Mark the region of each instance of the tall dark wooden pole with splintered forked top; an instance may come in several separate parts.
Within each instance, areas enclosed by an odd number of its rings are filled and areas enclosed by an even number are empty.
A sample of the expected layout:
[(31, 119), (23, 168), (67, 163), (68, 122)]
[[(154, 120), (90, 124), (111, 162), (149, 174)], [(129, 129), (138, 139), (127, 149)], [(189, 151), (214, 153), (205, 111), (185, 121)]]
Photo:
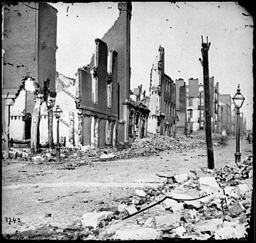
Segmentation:
[[(202, 66), (204, 74), (204, 113), (205, 113), (205, 136), (207, 145), (207, 162), (208, 168), (214, 169), (214, 154), (213, 154), (213, 140), (211, 132), (211, 94), (210, 94), (210, 84), (209, 84), (209, 62), (208, 62), (208, 51), (211, 42), (204, 43), (202, 36)], [(201, 61), (201, 58), (199, 58)]]

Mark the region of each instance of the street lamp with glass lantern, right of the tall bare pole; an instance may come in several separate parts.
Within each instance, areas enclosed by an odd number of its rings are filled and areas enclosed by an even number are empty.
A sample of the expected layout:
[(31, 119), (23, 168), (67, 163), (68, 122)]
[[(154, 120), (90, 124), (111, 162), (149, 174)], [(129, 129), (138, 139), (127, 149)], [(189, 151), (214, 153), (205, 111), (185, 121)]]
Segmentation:
[(237, 162), (241, 162), (240, 140), (239, 140), (239, 138), (240, 138), (240, 134), (239, 134), (240, 108), (242, 107), (243, 102), (245, 101), (245, 98), (243, 97), (243, 95), (240, 92), (239, 85), (237, 88), (237, 93), (234, 95), (232, 100), (234, 101), (234, 106), (237, 108), (236, 153), (234, 154), (235, 162), (237, 163)]

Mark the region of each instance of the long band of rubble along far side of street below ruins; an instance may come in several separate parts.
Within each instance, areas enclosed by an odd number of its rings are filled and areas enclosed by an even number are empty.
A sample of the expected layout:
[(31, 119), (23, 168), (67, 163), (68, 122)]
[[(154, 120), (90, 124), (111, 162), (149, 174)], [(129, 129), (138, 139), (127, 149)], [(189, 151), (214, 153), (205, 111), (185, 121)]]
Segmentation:
[[(225, 144), (231, 137), (213, 134), (214, 146)], [(134, 141), (130, 148), (118, 151), (116, 148), (91, 148), (90, 146), (65, 148), (60, 150), (60, 158), (62, 162), (81, 159), (97, 160), (114, 160), (133, 158), (138, 156), (149, 156), (161, 151), (186, 151), (195, 148), (206, 148), (205, 134), (203, 131), (194, 132), (191, 136), (177, 134), (175, 138), (168, 136), (146, 137)], [(54, 163), (56, 162), (56, 149), (43, 149), (43, 151), (34, 156), (28, 152), (26, 148), (13, 148), (8, 151), (2, 151), (2, 159), (5, 161), (23, 161), (32, 162), (33, 164)]]

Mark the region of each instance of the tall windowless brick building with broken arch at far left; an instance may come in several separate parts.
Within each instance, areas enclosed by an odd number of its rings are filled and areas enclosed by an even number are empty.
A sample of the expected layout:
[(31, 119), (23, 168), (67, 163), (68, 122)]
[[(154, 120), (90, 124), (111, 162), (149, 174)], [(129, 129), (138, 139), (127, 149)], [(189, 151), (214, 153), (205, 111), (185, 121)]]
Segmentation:
[[(14, 126), (22, 130), (22, 139), (30, 139), (34, 99), (40, 96), (41, 101), (50, 102), (48, 98), (54, 100), (56, 96), (56, 15), (57, 10), (45, 2), (5, 2), (2, 6), (3, 134), (9, 135), (10, 117), (16, 115), (19, 123)], [(22, 114), (12, 113), (17, 111), (15, 99), (28, 79), (34, 83), (35, 96), (26, 91), (22, 94)], [(36, 122), (33, 131), (38, 129)]]

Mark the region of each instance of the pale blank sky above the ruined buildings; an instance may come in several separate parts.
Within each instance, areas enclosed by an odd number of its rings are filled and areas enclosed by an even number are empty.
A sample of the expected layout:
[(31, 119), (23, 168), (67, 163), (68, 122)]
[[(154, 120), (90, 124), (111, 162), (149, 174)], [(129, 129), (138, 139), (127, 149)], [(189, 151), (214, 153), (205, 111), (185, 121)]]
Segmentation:
[[(51, 3), (58, 9), (56, 70), (75, 78), (90, 63), (95, 38), (102, 38), (119, 16), (117, 2)], [(165, 48), (165, 73), (173, 80), (198, 78), (201, 35), (208, 36), (209, 75), (221, 94), (234, 96), (240, 83), (241, 108), (252, 129), (253, 18), (235, 2), (132, 2), (131, 90), (142, 83), (148, 94), (150, 70), (159, 45)], [(243, 13), (245, 15), (243, 15)]]

